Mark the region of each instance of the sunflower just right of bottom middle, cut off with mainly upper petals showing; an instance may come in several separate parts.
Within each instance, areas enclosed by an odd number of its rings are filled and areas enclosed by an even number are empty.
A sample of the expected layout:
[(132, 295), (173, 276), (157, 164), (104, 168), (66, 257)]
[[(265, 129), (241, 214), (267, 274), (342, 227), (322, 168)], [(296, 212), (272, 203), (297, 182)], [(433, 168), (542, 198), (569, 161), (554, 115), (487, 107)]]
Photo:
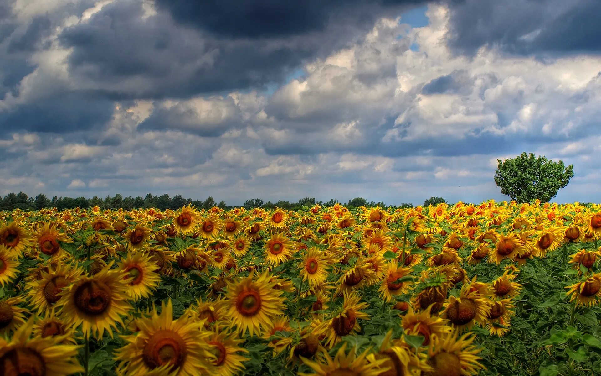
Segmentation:
[(314, 371), (312, 374), (305, 374), (299, 372), (302, 376), (320, 375), (320, 376), (334, 376), (334, 375), (353, 375), (353, 376), (377, 376), (382, 372), (388, 371), (388, 368), (384, 368), (383, 364), (386, 362), (385, 359), (374, 359), (373, 362), (367, 360), (367, 354), (369, 350), (365, 350), (359, 356), (355, 355), (355, 348), (346, 354), (346, 343), (343, 344), (337, 351), (334, 359), (329, 356), (328, 353), (323, 352), (323, 358), (321, 362), (314, 362), (302, 357), (303, 363), (310, 366)]

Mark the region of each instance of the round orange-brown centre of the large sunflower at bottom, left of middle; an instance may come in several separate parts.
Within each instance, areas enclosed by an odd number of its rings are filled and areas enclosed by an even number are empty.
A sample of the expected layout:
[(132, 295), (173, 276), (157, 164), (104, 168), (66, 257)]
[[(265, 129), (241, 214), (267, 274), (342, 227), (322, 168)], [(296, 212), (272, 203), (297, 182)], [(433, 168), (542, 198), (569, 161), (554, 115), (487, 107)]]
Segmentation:
[(181, 366), (186, 360), (188, 348), (182, 337), (172, 330), (158, 330), (144, 345), (142, 359), (151, 368), (163, 365)]

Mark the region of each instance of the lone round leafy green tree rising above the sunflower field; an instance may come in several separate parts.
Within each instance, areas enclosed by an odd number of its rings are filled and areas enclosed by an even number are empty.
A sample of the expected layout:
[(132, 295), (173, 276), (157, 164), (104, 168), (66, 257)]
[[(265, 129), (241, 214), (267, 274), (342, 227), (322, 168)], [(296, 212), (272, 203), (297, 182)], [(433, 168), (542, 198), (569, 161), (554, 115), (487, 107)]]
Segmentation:
[(574, 165), (568, 167), (563, 161), (549, 161), (545, 156), (523, 152), (516, 158), (497, 159), (495, 183), (501, 193), (519, 203), (540, 199), (548, 202), (574, 176)]

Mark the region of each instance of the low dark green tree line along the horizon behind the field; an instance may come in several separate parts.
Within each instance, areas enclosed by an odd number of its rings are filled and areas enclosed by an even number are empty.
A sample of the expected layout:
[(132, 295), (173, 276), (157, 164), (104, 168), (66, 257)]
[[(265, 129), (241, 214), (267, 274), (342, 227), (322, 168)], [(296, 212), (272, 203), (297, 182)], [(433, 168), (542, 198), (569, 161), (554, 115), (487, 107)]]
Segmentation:
[[(264, 208), (273, 209), (276, 206), (282, 209), (295, 210), (301, 209), (303, 206), (313, 206), (319, 204), (321, 206), (334, 206), (338, 203), (338, 200), (331, 199), (328, 202), (317, 201), (315, 197), (305, 197), (304, 199), (298, 200), (298, 202), (289, 202), (279, 200), (278, 202), (272, 203), (271, 201), (263, 202), (261, 199), (249, 199), (244, 203), (244, 207), (247, 209), (251, 208)], [(52, 198), (47, 197), (45, 194), (40, 193), (35, 197), (28, 197), (23, 192), (9, 193), (2, 197), (0, 201), (0, 211), (13, 209), (22, 210), (39, 210), (43, 208), (57, 208), (58, 210), (73, 209), (73, 208), (91, 208), (98, 205), (101, 209), (118, 209), (123, 208), (126, 210), (131, 209), (146, 209), (146, 208), (157, 208), (161, 210), (165, 209), (179, 209), (184, 205), (192, 204), (199, 209), (210, 209), (213, 206), (218, 206), (222, 209), (232, 209), (234, 206), (227, 205), (224, 200), (216, 202), (213, 197), (208, 197), (206, 200), (192, 200), (184, 199), (181, 194), (176, 194), (173, 197), (169, 197), (168, 194), (162, 196), (153, 196), (148, 193), (145, 197), (123, 197), (120, 194), (115, 194), (114, 197), (106, 196), (101, 199), (98, 196), (94, 196), (91, 199), (86, 197), (58, 197)], [(349, 202), (344, 205), (358, 208), (359, 206), (386, 206), (383, 202), (367, 201), (363, 197), (356, 197), (350, 199)], [(413, 208), (411, 203), (402, 203), (401, 205), (394, 206), (395, 208)]]

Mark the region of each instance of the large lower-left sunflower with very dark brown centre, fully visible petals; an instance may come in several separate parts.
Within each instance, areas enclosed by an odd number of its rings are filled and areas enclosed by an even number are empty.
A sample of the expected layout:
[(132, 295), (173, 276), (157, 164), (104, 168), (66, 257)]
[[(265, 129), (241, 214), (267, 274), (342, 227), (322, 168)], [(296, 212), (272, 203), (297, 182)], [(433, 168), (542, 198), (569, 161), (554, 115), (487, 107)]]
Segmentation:
[(61, 316), (72, 319), (75, 327), (82, 325), (85, 337), (92, 333), (102, 338), (105, 330), (112, 337), (112, 329), (117, 328), (117, 322), (123, 325), (121, 316), (130, 311), (126, 294), (129, 286), (123, 280), (126, 274), (110, 270), (111, 265), (92, 277), (81, 277), (72, 283), (57, 303), (61, 306)]

